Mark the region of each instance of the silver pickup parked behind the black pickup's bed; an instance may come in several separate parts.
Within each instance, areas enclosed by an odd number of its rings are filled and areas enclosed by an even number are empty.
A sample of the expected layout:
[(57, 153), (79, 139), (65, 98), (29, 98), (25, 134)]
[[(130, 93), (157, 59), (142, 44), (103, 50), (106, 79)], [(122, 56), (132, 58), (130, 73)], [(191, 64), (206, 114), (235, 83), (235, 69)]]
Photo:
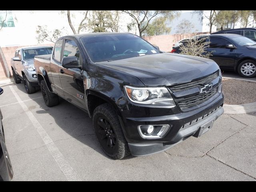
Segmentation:
[(15, 83), (23, 82), (26, 92), (32, 94), (40, 88), (34, 68), (34, 56), (52, 53), (52, 46), (18, 48), (12, 58), (11, 67)]

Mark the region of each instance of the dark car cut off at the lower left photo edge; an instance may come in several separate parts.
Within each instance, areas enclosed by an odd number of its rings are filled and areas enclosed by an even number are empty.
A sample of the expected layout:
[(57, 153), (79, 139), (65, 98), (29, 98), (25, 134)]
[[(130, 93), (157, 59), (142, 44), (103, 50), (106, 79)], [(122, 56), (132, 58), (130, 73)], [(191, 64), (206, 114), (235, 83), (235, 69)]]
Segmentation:
[[(4, 92), (0, 88), (0, 95)], [(0, 109), (0, 181), (10, 181), (13, 177), (12, 163), (8, 154), (5, 140), (4, 140), (4, 127), (2, 124), (2, 112)]]

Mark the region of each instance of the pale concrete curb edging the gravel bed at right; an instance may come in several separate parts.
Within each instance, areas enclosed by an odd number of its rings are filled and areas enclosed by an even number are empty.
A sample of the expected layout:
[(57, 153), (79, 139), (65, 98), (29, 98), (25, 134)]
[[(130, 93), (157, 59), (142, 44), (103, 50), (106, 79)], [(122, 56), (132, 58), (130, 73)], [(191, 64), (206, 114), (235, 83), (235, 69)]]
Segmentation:
[[(232, 77), (222, 77), (223, 79), (235, 79), (247, 82), (256, 83), (255, 80), (249, 79), (239, 79), (239, 78), (232, 78)], [(247, 114), (247, 113), (255, 113), (256, 112), (256, 102), (253, 103), (246, 103), (241, 105), (228, 105), (224, 104), (224, 114)]]

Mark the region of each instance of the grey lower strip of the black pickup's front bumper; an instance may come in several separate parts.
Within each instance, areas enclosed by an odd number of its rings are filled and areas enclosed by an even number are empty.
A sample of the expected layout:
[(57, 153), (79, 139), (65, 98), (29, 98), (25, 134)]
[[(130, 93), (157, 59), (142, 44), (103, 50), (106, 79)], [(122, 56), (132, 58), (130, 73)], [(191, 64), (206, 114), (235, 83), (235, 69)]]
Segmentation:
[(182, 142), (186, 138), (196, 134), (201, 126), (208, 124), (209, 122), (214, 122), (219, 116), (224, 112), (224, 109), (220, 106), (211, 115), (204, 118), (202, 121), (188, 127), (185, 129), (180, 129), (176, 136), (170, 142), (162, 143), (128, 143), (130, 152), (133, 156), (145, 156), (150, 154), (155, 154), (172, 146)]

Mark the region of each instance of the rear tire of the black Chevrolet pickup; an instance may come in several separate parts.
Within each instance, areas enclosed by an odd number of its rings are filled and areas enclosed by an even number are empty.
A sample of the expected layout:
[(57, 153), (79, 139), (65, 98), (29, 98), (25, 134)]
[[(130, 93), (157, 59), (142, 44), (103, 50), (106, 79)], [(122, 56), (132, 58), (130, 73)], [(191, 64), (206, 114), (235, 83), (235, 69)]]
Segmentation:
[(44, 80), (41, 81), (40, 86), (41, 86), (41, 91), (42, 91), (42, 95), (43, 95), (45, 104), (48, 107), (58, 105), (58, 103), (59, 103), (58, 95), (51, 93), (48, 90), (46, 82)]

